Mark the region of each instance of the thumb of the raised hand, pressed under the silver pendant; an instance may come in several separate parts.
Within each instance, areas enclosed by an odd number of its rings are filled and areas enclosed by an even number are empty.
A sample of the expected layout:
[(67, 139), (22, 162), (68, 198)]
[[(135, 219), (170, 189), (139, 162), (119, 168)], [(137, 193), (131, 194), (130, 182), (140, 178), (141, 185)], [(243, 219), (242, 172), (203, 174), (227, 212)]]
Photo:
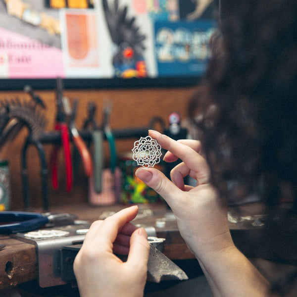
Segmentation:
[(155, 168), (138, 168), (135, 175), (162, 196), (171, 206), (182, 192), (162, 172)]

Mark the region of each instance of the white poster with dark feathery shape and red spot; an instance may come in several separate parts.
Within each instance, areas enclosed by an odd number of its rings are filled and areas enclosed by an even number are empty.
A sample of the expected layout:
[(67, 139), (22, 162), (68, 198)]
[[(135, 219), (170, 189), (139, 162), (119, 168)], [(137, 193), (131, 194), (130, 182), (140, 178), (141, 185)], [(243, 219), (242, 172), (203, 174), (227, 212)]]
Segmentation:
[(118, 7), (113, 0), (98, 0), (96, 5), (106, 75), (155, 77), (153, 22), (146, 0), (120, 0)]

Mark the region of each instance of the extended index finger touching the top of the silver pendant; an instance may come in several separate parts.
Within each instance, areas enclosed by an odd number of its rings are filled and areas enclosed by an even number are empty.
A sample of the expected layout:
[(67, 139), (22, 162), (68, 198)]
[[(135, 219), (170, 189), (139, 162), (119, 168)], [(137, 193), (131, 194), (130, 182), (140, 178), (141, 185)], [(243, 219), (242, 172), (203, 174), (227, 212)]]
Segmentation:
[(195, 172), (198, 172), (199, 170), (209, 170), (205, 159), (193, 148), (154, 130), (149, 130), (148, 135), (155, 139), (162, 148), (169, 150), (175, 156), (180, 158), (189, 169), (194, 170)]

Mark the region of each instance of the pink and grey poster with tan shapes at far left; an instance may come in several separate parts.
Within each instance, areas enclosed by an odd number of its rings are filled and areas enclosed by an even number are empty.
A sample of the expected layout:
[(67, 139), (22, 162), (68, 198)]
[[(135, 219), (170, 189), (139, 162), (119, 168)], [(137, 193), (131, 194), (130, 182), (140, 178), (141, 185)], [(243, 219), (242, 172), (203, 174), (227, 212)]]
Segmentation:
[(58, 12), (42, 0), (1, 0), (0, 56), (2, 78), (63, 76)]

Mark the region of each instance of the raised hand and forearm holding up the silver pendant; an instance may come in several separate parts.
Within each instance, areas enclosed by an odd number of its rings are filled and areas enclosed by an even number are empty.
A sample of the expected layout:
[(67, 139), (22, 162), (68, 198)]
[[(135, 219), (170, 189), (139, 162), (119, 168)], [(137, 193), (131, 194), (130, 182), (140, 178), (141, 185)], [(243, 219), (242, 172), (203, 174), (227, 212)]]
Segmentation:
[[(215, 297), (270, 296), (268, 283), (234, 246), (227, 206), (209, 183), (209, 168), (196, 141), (174, 141), (156, 131), (149, 135), (169, 150), (165, 161), (183, 162), (171, 171), (172, 182), (154, 168), (139, 168), (138, 178), (158, 192), (174, 212), (180, 233), (195, 253)], [(197, 180), (184, 185), (183, 177)]]

